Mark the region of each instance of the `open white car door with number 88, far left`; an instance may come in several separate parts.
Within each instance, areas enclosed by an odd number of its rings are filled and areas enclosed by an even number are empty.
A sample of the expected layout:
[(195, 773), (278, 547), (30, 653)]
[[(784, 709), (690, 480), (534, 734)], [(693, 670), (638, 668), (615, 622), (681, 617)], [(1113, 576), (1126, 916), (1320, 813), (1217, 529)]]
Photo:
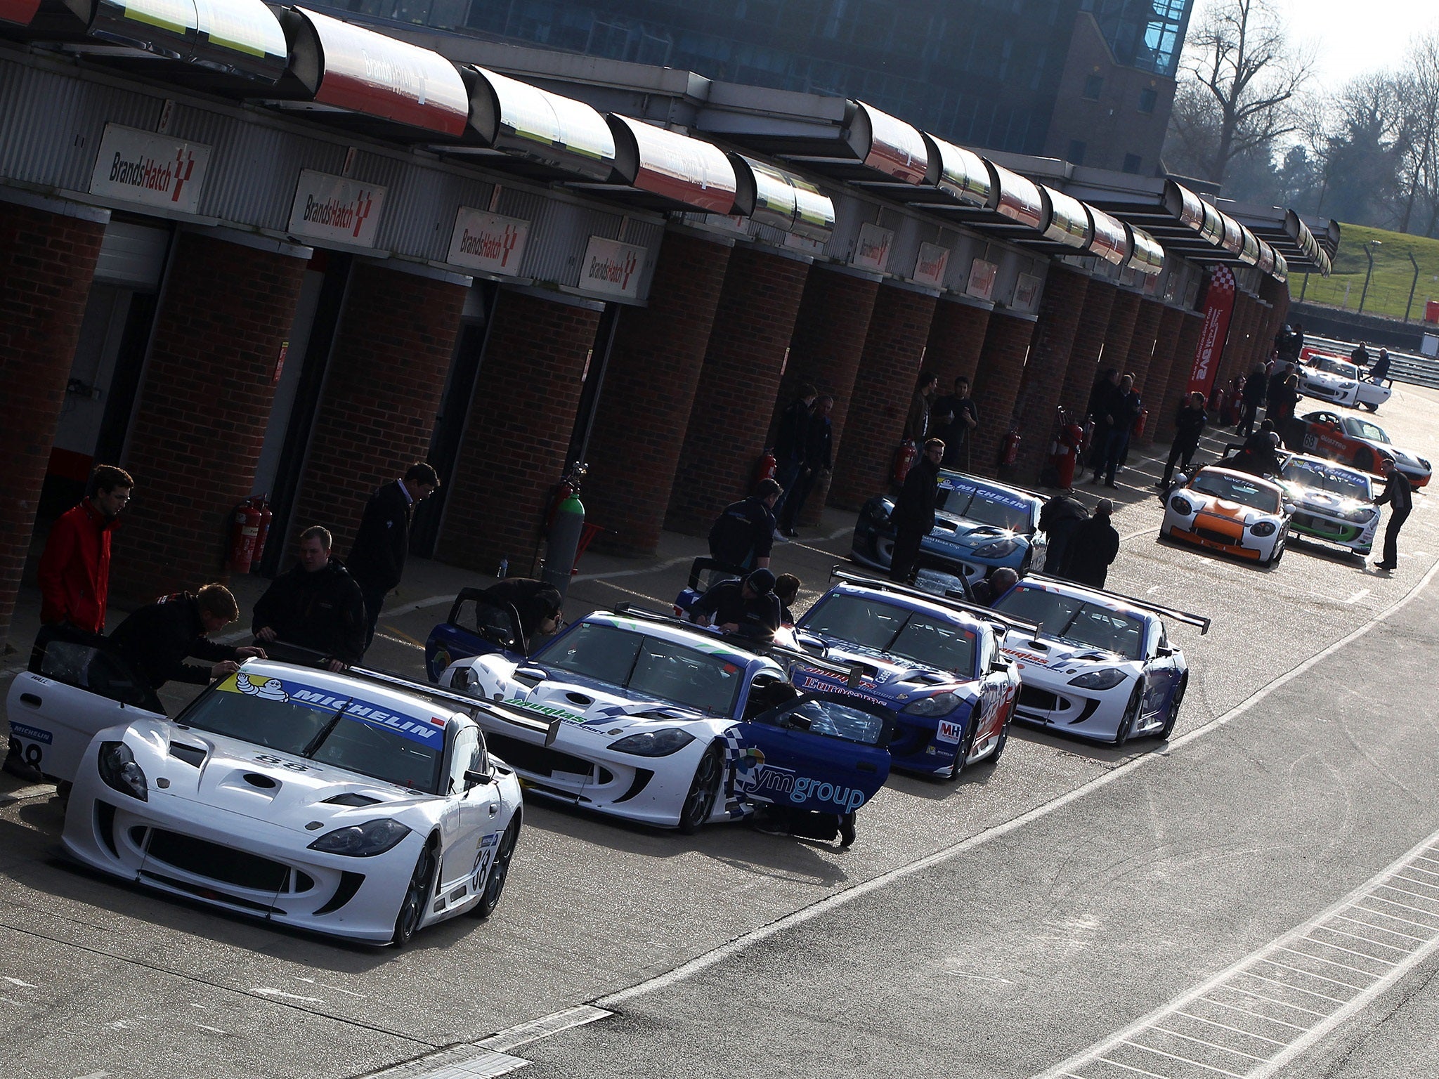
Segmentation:
[(46, 626), (6, 698), (10, 750), (56, 781), (73, 783), (81, 755), (108, 727), (165, 718), (164, 705), (105, 637)]

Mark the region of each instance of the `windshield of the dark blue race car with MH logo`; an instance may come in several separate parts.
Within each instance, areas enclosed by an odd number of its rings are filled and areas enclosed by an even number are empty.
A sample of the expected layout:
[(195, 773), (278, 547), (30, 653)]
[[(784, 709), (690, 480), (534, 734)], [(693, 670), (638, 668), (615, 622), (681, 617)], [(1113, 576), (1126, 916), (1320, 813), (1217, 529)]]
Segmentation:
[(800, 624), (810, 633), (896, 659), (974, 676), (974, 633), (932, 614), (836, 593), (804, 616)]

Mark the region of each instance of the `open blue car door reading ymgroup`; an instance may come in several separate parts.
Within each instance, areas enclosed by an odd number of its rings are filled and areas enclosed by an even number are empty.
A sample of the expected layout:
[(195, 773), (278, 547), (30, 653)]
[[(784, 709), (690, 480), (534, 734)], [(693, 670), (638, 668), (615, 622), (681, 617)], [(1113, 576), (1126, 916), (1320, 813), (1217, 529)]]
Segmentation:
[(803, 693), (725, 732), (732, 797), (853, 813), (889, 778), (894, 714), (843, 693)]

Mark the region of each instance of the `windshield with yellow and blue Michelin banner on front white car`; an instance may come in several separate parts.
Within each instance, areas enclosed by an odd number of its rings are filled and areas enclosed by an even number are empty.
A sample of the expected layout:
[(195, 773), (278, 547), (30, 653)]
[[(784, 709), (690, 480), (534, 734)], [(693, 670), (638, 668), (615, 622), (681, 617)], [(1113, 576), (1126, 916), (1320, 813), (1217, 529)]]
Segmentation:
[[(275, 683), (275, 685), (272, 685)], [(197, 731), (308, 757), (399, 787), (439, 793), (445, 728), (355, 698), (312, 691), (288, 679), (216, 683), (177, 719)]]

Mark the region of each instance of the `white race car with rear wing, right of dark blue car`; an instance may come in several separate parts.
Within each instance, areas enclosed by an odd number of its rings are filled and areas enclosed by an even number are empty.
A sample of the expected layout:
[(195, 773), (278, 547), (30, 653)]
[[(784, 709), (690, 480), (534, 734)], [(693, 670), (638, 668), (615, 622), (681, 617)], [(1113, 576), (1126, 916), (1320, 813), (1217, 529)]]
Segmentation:
[(1209, 619), (1038, 574), (1020, 578), (994, 610), (1039, 626), (1038, 634), (1004, 634), (1003, 652), (1019, 666), (1016, 719), (1115, 745), (1168, 738), (1189, 665), (1164, 619), (1200, 633)]

